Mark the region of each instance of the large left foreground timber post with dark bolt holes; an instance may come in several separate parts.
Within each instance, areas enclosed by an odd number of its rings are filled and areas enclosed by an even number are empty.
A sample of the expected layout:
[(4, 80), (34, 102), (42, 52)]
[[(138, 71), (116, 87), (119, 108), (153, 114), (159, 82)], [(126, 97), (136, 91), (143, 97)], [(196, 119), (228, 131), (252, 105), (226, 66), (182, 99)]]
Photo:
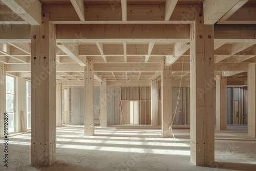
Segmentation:
[(56, 28), (49, 14), (31, 26), (31, 165), (56, 161)]

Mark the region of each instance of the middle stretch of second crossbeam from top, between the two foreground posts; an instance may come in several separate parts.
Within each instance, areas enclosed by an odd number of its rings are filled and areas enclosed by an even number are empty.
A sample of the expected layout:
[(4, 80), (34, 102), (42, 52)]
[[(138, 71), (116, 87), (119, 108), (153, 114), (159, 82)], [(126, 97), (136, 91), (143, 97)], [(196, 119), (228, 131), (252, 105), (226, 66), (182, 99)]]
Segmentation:
[[(58, 25), (58, 42), (189, 41), (189, 25)], [(93, 40), (94, 39), (94, 40)], [(97, 41), (95, 41), (97, 39)], [(139, 39), (136, 40), (136, 39)], [(97, 45), (99, 46), (99, 45)], [(103, 48), (99, 48), (103, 52)]]

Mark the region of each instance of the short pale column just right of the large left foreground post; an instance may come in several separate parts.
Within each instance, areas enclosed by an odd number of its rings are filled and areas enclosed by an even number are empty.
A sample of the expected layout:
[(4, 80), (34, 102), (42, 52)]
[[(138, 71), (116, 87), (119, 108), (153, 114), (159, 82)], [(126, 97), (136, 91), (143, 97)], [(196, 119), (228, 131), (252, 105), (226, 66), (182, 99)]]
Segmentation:
[(56, 86), (56, 125), (62, 126), (62, 84)]

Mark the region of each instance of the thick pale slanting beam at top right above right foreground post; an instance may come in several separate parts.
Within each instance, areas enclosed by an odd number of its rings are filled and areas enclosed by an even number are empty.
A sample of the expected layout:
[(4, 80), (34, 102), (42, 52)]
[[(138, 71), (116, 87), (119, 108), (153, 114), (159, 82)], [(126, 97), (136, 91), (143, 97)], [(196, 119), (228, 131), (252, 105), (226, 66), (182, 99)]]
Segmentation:
[(221, 17), (223, 17), (229, 10), (231, 10), (239, 0), (205, 0), (203, 3), (204, 9), (204, 24), (214, 25)]

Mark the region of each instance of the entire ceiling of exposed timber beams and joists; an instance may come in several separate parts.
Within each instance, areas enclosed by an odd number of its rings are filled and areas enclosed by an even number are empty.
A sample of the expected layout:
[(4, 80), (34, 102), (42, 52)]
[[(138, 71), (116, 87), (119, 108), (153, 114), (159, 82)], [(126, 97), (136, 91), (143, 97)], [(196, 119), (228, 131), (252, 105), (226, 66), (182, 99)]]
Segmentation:
[(254, 0), (2, 0), (0, 8), (0, 62), (7, 74), (26, 79), (30, 25), (39, 25), (42, 13), (57, 25), (56, 79), (66, 84), (82, 82), (88, 58), (98, 82), (159, 79), (164, 60), (174, 80), (189, 80), (189, 30), (199, 9), (204, 24), (215, 24), (216, 73), (245, 83), (248, 63), (256, 62)]

